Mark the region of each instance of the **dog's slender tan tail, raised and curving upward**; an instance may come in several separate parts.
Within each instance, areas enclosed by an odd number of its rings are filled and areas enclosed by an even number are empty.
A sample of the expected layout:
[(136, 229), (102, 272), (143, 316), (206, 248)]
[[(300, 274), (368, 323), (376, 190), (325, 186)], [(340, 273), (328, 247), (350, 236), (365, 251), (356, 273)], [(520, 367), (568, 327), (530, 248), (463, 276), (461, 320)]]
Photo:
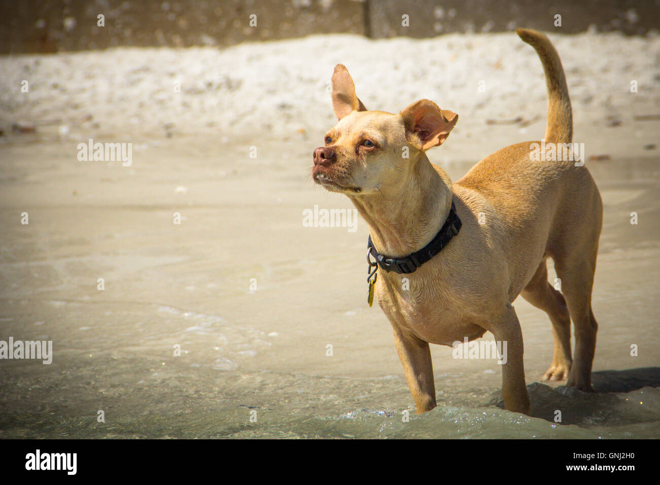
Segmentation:
[(568, 98), (566, 77), (562, 61), (550, 39), (537, 30), (518, 28), (518, 36), (536, 49), (543, 63), (548, 88), (548, 121), (545, 129), (546, 143), (571, 143), (573, 139), (573, 113)]

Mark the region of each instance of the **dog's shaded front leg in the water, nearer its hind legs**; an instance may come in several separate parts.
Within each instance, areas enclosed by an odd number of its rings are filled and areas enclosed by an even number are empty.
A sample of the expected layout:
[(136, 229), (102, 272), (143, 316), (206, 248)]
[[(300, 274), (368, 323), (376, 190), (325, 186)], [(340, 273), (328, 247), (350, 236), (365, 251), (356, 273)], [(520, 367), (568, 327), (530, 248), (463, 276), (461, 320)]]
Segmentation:
[(499, 362), (502, 364), (504, 408), (529, 414), (529, 396), (523, 367), (523, 334), (511, 304), (506, 304), (504, 312), (489, 330), (495, 336), (498, 349), (502, 349), (503, 354)]

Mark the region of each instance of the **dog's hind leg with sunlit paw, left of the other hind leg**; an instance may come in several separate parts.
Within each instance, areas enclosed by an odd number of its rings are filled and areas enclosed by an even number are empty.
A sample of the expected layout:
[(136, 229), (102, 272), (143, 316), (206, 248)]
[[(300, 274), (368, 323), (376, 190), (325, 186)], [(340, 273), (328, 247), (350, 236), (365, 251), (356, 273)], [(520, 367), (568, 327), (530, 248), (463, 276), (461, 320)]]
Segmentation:
[(546, 259), (541, 261), (539, 269), (527, 283), (520, 296), (533, 306), (542, 309), (552, 322), (554, 335), (554, 350), (552, 363), (543, 375), (544, 381), (560, 381), (568, 377), (571, 359), (571, 317), (568, 313), (564, 296), (548, 282), (548, 267)]

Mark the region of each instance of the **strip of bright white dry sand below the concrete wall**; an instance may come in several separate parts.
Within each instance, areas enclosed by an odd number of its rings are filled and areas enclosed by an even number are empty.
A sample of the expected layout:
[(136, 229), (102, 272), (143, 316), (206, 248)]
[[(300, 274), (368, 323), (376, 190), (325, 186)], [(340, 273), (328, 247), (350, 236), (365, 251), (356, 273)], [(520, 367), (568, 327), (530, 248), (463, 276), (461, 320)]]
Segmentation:
[[(660, 106), (660, 38), (551, 34), (576, 122)], [(116, 48), (0, 58), (0, 122), (91, 114), (103, 133), (220, 131), (265, 135), (323, 131), (334, 123), (327, 86), (345, 63), (370, 109), (398, 112), (430, 98), (463, 119), (545, 115), (543, 70), (515, 33), (428, 40), (313, 36), (232, 48)], [(20, 82), (30, 83), (28, 94)], [(630, 81), (639, 92), (630, 92)], [(485, 92), (479, 92), (480, 82)], [(175, 92), (180, 82), (181, 92)], [(174, 123), (174, 125), (172, 125)], [(542, 121), (543, 123), (543, 121)], [(97, 127), (99, 128), (99, 127)], [(66, 131), (66, 129), (65, 129)]]

